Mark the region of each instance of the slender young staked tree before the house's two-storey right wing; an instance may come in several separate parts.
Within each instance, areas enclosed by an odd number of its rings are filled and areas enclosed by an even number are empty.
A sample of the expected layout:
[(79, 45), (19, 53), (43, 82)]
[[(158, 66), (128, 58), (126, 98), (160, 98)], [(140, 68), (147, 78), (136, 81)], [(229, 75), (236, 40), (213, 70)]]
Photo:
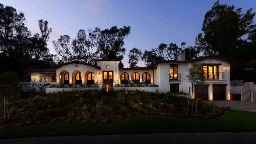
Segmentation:
[[(193, 113), (193, 92), (195, 84), (203, 84), (204, 76), (203, 76), (203, 68), (197, 63), (192, 64), (191, 68), (188, 69), (188, 75), (186, 75), (187, 81), (190, 84), (189, 89), (191, 90), (191, 114)], [(189, 96), (188, 96), (188, 105), (189, 105)], [(196, 114), (197, 114), (197, 98), (196, 98)]]

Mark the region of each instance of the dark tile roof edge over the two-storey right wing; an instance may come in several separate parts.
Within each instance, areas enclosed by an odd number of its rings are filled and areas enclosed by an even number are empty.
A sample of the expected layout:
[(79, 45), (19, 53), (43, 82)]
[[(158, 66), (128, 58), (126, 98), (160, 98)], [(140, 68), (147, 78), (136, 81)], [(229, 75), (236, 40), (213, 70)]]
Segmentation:
[(219, 55), (208, 55), (208, 56), (202, 56), (202, 57), (198, 57), (196, 59), (192, 59), (192, 60), (186, 60), (186, 61), (177, 61), (177, 60), (162, 60), (162, 61), (156, 61), (155, 63), (153, 63), (152, 65), (150, 65), (150, 68), (155, 67), (156, 65), (160, 64), (160, 63), (192, 63), (198, 60), (202, 60), (202, 59), (206, 59), (206, 58), (218, 58), (218, 59), (224, 59), (226, 61), (229, 61), (229, 63), (234, 62), (235, 60), (226, 58), (226, 57), (222, 57)]

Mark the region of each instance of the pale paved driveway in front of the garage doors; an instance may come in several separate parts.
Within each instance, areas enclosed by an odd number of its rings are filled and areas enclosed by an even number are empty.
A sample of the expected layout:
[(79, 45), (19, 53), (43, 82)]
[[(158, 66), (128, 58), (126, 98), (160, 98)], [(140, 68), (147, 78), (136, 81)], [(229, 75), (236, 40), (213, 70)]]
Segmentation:
[(208, 103), (213, 103), (213, 105), (220, 107), (231, 107), (230, 109), (234, 110), (243, 110), (256, 112), (256, 103), (252, 102), (241, 102), (238, 100), (230, 100), (230, 101), (207, 101)]

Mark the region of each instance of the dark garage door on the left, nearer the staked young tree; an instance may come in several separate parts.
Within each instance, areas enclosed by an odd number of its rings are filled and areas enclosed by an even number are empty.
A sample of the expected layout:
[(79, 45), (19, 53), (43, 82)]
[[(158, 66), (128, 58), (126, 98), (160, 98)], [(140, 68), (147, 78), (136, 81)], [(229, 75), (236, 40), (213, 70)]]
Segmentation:
[(195, 98), (208, 100), (208, 86), (209, 85), (195, 85)]

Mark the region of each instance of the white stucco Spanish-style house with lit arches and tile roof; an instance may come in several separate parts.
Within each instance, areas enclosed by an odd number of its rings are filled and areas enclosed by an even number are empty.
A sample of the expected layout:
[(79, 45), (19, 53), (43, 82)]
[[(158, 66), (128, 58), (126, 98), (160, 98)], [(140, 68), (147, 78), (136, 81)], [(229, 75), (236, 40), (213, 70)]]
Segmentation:
[[(71, 61), (51, 69), (32, 69), (31, 82), (49, 82), (56, 85), (97, 85), (98, 89), (141, 89), (179, 93), (189, 92), (186, 75), (193, 63), (203, 67), (205, 82), (195, 85), (195, 95), (203, 100), (230, 99), (230, 60), (209, 55), (186, 60), (185, 50), (178, 52), (177, 60), (156, 61), (148, 67), (118, 68), (120, 60), (96, 60), (96, 65)], [(137, 85), (139, 87), (126, 87)], [(57, 88), (47, 88), (47, 90)], [(72, 88), (71, 88), (72, 89)], [(75, 87), (73, 88), (75, 89)]]

